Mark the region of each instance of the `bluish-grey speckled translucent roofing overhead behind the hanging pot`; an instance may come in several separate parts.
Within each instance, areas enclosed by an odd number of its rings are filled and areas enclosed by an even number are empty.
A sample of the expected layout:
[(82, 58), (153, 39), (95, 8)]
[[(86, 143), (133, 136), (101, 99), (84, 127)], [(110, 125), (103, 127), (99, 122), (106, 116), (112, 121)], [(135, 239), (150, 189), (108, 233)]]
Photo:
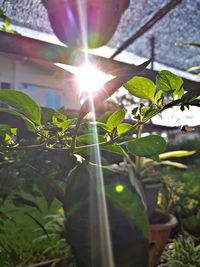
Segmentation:
[[(159, 9), (170, 0), (131, 0), (109, 46), (117, 48), (140, 29)], [(12, 23), (37, 31), (53, 34), (41, 0), (0, 0)], [(155, 60), (185, 70), (199, 65), (198, 47), (177, 46), (176, 42), (200, 42), (200, 0), (182, 0), (150, 30), (131, 44), (127, 51), (150, 57), (150, 37), (155, 37)]]

